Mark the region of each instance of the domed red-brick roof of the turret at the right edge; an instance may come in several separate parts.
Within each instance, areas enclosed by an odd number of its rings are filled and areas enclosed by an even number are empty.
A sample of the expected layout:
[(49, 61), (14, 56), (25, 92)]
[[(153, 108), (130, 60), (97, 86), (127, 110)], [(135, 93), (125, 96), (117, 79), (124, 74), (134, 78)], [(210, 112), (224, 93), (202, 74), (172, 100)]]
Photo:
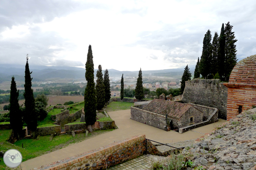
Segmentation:
[(232, 70), (228, 84), (253, 85), (256, 83), (256, 55), (239, 61)]

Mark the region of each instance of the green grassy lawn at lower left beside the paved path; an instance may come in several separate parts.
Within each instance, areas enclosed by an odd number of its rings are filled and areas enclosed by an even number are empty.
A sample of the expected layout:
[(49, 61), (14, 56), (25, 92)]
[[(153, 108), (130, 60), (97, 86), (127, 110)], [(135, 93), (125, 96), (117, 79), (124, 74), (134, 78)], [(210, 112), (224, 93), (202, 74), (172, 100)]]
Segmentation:
[[(6, 140), (10, 135), (10, 130), (0, 130), (0, 150), (7, 151), (8, 149), (17, 149), (22, 153), (23, 162), (38, 157), (43, 154), (61, 149), (68, 146), (69, 144), (77, 143), (94, 137), (99, 134), (103, 134), (114, 129), (100, 130), (90, 132), (88, 136), (85, 133), (76, 134), (75, 137), (72, 135), (60, 135), (55, 136), (52, 141), (50, 141), (50, 136), (40, 136), (39, 139), (22, 139), (13, 144), (10, 144)], [(23, 148), (22, 148), (23, 144)], [(3, 158), (0, 158), (0, 170), (5, 170), (6, 166), (3, 162)]]

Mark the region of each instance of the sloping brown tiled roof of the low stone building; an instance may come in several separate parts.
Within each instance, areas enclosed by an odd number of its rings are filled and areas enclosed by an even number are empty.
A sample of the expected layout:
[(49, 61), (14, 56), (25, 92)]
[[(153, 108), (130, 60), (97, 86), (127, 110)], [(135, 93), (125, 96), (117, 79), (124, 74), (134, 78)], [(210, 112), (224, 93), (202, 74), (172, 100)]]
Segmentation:
[(154, 99), (143, 110), (152, 111), (154, 113), (168, 115), (179, 119), (191, 107), (189, 104), (177, 103), (174, 101), (166, 101)]

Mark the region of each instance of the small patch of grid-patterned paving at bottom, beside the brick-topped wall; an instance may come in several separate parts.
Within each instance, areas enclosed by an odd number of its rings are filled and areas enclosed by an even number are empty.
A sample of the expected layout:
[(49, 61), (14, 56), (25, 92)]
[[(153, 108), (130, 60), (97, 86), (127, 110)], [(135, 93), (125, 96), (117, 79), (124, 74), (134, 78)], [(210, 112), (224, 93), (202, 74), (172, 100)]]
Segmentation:
[(155, 155), (142, 155), (125, 163), (108, 168), (108, 170), (144, 170), (150, 167), (150, 162), (157, 159), (162, 159)]

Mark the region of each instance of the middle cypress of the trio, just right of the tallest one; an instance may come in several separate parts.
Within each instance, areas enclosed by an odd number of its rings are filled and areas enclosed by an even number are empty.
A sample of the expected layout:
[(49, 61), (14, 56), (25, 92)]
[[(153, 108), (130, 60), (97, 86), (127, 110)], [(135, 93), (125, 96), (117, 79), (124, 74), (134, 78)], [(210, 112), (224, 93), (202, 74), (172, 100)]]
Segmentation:
[(105, 104), (105, 88), (104, 88), (101, 65), (98, 66), (96, 77), (97, 77), (97, 80), (96, 80), (97, 84), (95, 87), (95, 91), (96, 91), (97, 109), (101, 110)]

